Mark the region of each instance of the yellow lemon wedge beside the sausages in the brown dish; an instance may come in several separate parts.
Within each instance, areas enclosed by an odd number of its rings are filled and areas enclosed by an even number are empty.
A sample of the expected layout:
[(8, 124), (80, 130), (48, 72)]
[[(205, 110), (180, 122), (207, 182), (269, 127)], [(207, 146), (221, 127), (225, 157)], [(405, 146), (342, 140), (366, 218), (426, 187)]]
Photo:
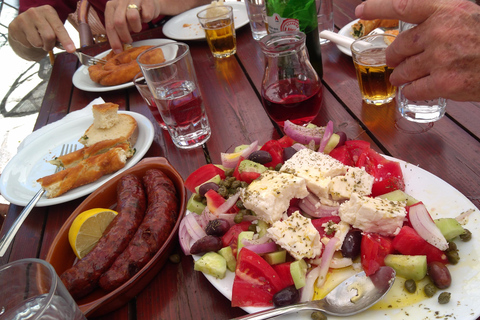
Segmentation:
[(68, 230), (68, 241), (79, 259), (85, 257), (95, 247), (116, 215), (116, 211), (95, 208), (80, 213), (73, 220)]

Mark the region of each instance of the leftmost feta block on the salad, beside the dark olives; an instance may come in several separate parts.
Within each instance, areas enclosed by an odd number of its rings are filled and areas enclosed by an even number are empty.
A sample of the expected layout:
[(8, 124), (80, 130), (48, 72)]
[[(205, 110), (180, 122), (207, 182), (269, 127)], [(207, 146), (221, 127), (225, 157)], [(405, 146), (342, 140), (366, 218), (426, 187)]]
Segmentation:
[(291, 199), (303, 199), (308, 193), (305, 179), (267, 170), (242, 190), (240, 198), (245, 208), (255, 212), (260, 220), (272, 224), (282, 218)]

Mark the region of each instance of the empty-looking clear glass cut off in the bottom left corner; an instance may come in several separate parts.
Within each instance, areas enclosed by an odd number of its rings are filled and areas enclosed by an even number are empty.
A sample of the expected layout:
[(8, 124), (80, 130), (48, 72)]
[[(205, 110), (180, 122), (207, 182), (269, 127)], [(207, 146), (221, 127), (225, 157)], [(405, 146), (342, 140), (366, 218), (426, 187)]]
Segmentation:
[(0, 318), (86, 320), (58, 277), (40, 259), (22, 259), (0, 267)]

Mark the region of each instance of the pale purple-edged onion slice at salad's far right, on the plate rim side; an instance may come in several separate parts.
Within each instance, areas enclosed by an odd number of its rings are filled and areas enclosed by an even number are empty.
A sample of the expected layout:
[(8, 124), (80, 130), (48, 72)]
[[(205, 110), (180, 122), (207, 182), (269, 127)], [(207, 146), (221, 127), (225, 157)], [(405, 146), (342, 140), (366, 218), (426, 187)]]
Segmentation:
[(408, 218), (413, 229), (418, 235), (431, 245), (445, 251), (448, 249), (448, 242), (442, 232), (435, 225), (432, 217), (423, 203), (411, 206), (408, 211)]

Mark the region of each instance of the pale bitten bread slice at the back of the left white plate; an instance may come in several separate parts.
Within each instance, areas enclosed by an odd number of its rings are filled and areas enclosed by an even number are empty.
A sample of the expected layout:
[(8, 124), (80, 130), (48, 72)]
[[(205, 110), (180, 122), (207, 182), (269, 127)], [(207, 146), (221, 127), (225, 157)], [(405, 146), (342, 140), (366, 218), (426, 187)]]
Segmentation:
[(135, 118), (128, 114), (118, 114), (117, 123), (109, 129), (96, 128), (92, 124), (85, 134), (78, 140), (87, 147), (93, 146), (102, 140), (124, 138), (131, 146), (135, 145), (138, 137), (138, 126)]

